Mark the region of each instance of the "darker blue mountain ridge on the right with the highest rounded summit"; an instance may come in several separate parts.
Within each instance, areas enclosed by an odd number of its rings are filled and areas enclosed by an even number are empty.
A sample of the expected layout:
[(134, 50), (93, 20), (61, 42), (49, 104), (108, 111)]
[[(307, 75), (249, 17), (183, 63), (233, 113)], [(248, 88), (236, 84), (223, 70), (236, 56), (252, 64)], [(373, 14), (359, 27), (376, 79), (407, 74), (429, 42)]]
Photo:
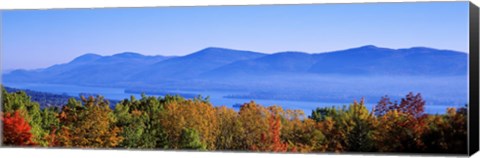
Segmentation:
[(467, 74), (467, 54), (414, 47), (378, 48), (372, 45), (335, 52), (307, 54), (280, 52), (253, 60), (237, 61), (206, 74), (314, 73), (320, 75), (420, 75)]

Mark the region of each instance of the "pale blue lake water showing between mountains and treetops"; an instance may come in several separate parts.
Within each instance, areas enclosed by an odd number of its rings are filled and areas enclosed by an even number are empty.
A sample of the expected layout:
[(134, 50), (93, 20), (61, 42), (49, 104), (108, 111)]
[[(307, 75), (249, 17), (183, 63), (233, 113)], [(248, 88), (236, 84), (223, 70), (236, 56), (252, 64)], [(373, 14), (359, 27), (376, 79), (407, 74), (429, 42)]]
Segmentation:
[[(140, 98), (140, 94), (125, 93), (122, 88), (105, 88), (105, 87), (88, 87), (88, 86), (76, 86), (76, 85), (63, 85), (63, 84), (32, 84), (32, 83), (3, 83), (7, 87), (18, 88), (18, 89), (30, 89), (34, 91), (49, 92), (55, 94), (67, 94), (70, 96), (79, 96), (80, 93), (88, 94), (100, 94), (107, 99), (112, 100), (123, 100), (125, 98), (130, 98), (130, 96), (135, 96)], [(250, 102), (251, 99), (237, 99), (237, 98), (224, 98), (231, 93), (222, 92), (222, 91), (171, 91), (172, 93), (194, 93), (201, 94), (203, 97), (209, 96), (210, 101), (215, 106), (225, 105), (227, 107), (233, 108), (235, 104), (243, 104)], [(158, 95), (150, 95), (158, 96)], [(267, 100), (267, 99), (255, 99), (255, 102), (263, 106), (270, 105), (279, 105), (284, 109), (298, 109), (303, 110), (306, 115), (310, 115), (311, 111), (317, 107), (332, 107), (343, 105), (348, 105), (351, 103), (329, 103), (329, 102), (309, 102), (309, 101), (288, 101), (288, 100)], [(370, 110), (378, 102), (375, 101), (366, 101), (366, 107)], [(425, 112), (435, 114), (435, 113), (445, 113), (445, 105), (428, 105), (425, 107)], [(238, 110), (238, 108), (235, 108)]]

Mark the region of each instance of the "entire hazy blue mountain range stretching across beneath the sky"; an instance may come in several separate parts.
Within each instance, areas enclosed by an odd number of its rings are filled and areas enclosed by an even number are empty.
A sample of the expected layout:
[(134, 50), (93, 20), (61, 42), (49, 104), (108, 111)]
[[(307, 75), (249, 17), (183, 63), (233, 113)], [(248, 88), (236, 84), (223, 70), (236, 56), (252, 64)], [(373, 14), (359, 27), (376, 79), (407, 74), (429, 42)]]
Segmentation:
[(71, 62), (39, 70), (15, 70), (7, 82), (125, 86), (248, 78), (269, 75), (463, 76), (468, 55), (425, 47), (379, 48), (373, 45), (325, 53), (265, 54), (210, 47), (185, 56), (112, 56), (85, 54)]

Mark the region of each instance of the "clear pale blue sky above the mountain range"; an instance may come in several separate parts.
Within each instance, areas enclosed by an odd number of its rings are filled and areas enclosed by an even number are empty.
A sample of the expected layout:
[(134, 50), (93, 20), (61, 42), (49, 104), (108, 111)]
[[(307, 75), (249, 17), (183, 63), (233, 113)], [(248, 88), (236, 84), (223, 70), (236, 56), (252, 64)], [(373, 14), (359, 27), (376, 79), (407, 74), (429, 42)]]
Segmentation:
[(321, 53), (362, 45), (468, 53), (468, 2), (2, 11), (2, 69), (85, 53), (185, 55), (206, 47)]

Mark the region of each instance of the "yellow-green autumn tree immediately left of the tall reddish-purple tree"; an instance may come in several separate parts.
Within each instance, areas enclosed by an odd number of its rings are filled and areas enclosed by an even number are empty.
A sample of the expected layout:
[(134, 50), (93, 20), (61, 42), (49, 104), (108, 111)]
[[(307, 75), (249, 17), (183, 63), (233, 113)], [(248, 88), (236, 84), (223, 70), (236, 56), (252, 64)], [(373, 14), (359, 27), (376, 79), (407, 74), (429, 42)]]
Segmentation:
[(322, 108), (313, 118), (320, 126), (327, 141), (323, 151), (373, 151), (374, 115), (364, 105), (364, 100), (354, 101), (342, 109)]

